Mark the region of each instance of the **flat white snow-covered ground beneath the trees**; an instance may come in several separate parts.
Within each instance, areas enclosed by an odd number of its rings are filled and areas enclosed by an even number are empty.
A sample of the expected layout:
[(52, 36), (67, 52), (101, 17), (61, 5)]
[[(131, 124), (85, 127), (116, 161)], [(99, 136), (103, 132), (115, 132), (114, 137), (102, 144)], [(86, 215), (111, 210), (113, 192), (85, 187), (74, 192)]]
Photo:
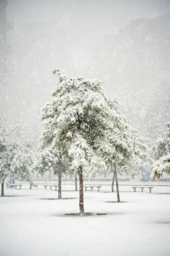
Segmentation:
[[(86, 212), (105, 216), (65, 216), (78, 212), (78, 192), (6, 189), (0, 197), (1, 256), (170, 255), (170, 187), (134, 193), (120, 187), (120, 198), (102, 188), (85, 192)], [(46, 200), (45, 200), (46, 198)]]

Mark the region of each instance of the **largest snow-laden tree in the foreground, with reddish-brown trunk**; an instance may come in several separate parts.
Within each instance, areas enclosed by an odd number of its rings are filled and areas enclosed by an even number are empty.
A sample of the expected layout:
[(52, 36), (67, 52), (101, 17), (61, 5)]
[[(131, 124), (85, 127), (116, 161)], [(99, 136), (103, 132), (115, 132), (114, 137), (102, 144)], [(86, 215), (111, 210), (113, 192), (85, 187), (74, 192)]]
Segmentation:
[(45, 147), (59, 150), (61, 158), (67, 159), (70, 172), (78, 172), (83, 213), (83, 171), (88, 166), (104, 165), (100, 148), (106, 147), (110, 108), (100, 81), (69, 78), (59, 70), (54, 74), (59, 77), (59, 84), (52, 102), (43, 108), (43, 141)]

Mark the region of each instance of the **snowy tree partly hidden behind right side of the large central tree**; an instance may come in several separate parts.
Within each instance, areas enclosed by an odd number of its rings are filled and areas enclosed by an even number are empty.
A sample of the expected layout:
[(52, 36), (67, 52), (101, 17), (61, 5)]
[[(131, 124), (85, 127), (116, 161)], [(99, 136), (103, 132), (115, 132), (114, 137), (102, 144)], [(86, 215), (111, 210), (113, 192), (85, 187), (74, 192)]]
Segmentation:
[[(114, 180), (117, 187), (117, 200), (120, 202), (118, 189), (117, 170), (124, 166), (128, 160), (139, 161), (143, 157), (145, 145), (139, 139), (138, 134), (127, 124), (127, 120), (118, 113), (118, 103), (114, 99), (108, 99), (110, 107), (110, 129), (107, 131), (108, 152), (104, 152), (106, 164), (113, 171), (111, 191), (114, 191)], [(103, 150), (101, 148), (101, 150)]]

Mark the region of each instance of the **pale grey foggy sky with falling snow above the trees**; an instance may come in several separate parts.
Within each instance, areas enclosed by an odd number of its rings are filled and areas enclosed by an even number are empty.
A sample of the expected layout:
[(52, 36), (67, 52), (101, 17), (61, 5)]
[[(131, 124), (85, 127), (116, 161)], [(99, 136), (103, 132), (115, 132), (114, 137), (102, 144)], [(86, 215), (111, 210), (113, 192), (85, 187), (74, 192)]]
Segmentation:
[(150, 139), (169, 121), (169, 0), (0, 0), (0, 124), (38, 139), (52, 69), (98, 78)]

